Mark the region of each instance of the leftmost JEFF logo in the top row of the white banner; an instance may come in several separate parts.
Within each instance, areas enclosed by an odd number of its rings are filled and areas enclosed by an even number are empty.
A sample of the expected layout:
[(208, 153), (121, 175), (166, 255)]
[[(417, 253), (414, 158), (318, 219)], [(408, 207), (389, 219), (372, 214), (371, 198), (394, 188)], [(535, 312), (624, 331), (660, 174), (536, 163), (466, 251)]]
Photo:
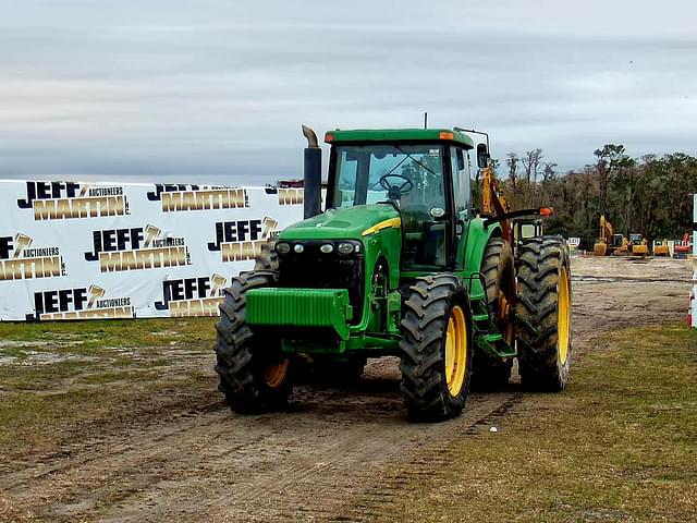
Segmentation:
[(34, 209), (36, 221), (129, 214), (122, 186), (73, 182), (26, 182), (26, 198), (17, 199), (17, 207)]

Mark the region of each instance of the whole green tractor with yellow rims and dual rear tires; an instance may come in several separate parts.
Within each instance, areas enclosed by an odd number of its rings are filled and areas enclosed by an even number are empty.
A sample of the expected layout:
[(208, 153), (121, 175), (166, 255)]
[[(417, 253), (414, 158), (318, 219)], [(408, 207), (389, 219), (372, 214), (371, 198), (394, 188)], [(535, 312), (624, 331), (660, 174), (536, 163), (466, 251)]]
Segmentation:
[[(564, 388), (571, 275), (557, 236), (522, 241), (489, 168), (489, 146), (454, 130), (332, 131), (326, 208), (321, 150), (303, 127), (305, 219), (225, 289), (217, 325), (219, 389), (234, 412), (286, 405), (302, 355), (330, 381), (367, 357), (401, 358), (412, 421), (457, 416), (470, 385)], [(478, 133), (484, 134), (484, 133)], [(470, 154), (485, 202), (472, 202)]]

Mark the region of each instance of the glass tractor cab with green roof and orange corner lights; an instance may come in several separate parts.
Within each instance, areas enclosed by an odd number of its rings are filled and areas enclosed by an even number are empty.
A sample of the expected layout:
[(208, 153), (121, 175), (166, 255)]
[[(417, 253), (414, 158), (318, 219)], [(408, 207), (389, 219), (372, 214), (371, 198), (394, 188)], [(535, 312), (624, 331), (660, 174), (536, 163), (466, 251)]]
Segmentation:
[(472, 216), (472, 139), (455, 131), (334, 131), (328, 209), (388, 205), (402, 230), (405, 269), (452, 267)]

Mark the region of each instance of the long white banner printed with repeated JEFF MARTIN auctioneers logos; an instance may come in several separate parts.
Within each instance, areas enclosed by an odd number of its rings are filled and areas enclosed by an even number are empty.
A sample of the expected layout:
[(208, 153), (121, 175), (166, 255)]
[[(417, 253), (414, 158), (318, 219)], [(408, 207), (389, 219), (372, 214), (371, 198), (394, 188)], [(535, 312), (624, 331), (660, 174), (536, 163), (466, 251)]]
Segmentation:
[(0, 320), (215, 316), (303, 190), (0, 180)]

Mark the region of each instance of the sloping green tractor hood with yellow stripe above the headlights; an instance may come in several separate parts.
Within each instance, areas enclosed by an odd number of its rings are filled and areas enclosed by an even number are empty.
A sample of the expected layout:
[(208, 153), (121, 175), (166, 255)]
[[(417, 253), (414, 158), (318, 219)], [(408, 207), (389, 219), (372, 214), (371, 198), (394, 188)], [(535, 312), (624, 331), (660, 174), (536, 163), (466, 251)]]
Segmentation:
[(288, 227), (279, 240), (360, 240), (388, 227), (401, 227), (400, 214), (391, 204), (357, 205), (328, 209)]

